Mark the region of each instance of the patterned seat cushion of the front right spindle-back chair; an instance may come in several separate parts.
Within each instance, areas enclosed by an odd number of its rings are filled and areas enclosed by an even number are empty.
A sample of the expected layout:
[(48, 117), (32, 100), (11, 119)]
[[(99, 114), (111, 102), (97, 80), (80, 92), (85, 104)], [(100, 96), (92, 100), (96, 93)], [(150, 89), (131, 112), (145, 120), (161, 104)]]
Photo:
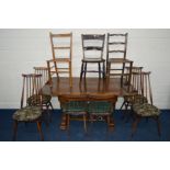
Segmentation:
[(137, 115), (140, 116), (159, 116), (160, 114), (160, 110), (158, 107), (148, 103), (136, 103), (133, 105), (133, 110)]

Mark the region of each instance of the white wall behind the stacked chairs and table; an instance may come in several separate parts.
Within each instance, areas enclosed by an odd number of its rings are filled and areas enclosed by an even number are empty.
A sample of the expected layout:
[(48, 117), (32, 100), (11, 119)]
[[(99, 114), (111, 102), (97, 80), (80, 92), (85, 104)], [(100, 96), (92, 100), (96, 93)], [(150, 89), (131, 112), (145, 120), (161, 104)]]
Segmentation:
[[(150, 70), (154, 101), (160, 109), (170, 109), (170, 30), (0, 30), (0, 107), (19, 107), (21, 73), (34, 66), (46, 66), (52, 58), (49, 31), (73, 33), (73, 76), (79, 77), (81, 33), (128, 32), (127, 57), (136, 66)], [(57, 107), (57, 99), (53, 99)], [(121, 103), (118, 103), (120, 105)], [(117, 105), (117, 107), (118, 107)]]

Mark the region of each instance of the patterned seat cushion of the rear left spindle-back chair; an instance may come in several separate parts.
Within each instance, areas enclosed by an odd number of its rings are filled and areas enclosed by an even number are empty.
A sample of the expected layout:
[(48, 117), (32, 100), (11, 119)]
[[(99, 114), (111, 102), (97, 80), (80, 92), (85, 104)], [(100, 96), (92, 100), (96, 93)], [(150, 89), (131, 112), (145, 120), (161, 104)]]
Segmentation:
[[(52, 97), (48, 94), (42, 95), (42, 104), (47, 104), (50, 102)], [(41, 95), (32, 95), (27, 99), (29, 105), (37, 105), (41, 103)]]

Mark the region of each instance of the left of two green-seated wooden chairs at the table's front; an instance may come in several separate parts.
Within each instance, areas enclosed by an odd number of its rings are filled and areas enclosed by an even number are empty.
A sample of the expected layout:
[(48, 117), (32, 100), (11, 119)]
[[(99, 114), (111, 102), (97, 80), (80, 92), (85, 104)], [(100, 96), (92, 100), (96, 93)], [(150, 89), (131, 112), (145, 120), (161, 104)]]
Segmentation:
[[(84, 132), (87, 132), (88, 95), (87, 94), (60, 94), (58, 95), (63, 114), (66, 115), (67, 129), (70, 120), (80, 121), (83, 117)], [(71, 117), (72, 116), (72, 117)]]

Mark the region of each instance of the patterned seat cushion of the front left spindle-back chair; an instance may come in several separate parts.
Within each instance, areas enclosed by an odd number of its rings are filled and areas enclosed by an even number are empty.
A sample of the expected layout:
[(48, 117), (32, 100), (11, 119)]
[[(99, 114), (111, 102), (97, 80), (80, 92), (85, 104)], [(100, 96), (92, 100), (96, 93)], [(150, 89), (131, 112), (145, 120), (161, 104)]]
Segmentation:
[(12, 117), (15, 121), (29, 122), (29, 121), (37, 120), (38, 117), (41, 117), (41, 115), (42, 115), (41, 107), (38, 107), (38, 106), (25, 106), (23, 109), (18, 110), (13, 114)]

